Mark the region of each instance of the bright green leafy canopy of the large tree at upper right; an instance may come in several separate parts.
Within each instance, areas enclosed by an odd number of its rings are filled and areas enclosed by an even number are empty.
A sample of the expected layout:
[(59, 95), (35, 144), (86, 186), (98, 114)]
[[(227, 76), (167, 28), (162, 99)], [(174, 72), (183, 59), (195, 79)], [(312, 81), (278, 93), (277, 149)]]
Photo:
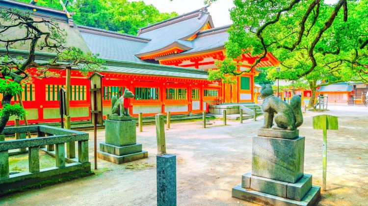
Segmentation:
[(367, 79), (368, 0), (334, 4), (323, 0), (234, 0), (234, 4), (230, 10), (234, 24), (226, 43), (228, 58), (246, 52), (263, 57), (272, 52), (281, 70), (270, 69), (268, 78), (303, 78), (313, 88), (352, 77)]

